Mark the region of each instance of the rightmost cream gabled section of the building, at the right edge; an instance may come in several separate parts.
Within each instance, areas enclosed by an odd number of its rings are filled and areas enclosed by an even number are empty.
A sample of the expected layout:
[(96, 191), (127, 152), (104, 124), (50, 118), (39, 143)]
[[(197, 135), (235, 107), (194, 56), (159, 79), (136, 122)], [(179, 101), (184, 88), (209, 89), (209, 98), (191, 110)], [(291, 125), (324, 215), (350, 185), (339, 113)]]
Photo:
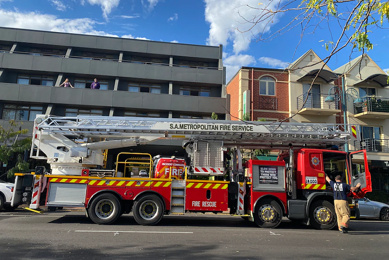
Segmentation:
[[(360, 126), (360, 139), (350, 150), (368, 151), (369, 169), (375, 190), (389, 191), (389, 89), (388, 75), (367, 54), (356, 57), (334, 71), (344, 75), (347, 121)], [(353, 100), (360, 97), (362, 105)]]

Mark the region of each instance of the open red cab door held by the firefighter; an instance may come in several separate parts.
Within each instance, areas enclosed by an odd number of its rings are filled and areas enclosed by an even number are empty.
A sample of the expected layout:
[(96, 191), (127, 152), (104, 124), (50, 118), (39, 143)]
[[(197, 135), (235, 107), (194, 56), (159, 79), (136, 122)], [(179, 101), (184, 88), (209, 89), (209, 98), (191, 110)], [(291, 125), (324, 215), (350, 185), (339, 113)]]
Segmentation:
[[(360, 163), (361, 157), (363, 163)], [(361, 186), (360, 189), (356, 192), (356, 197), (363, 198), (367, 192), (371, 191), (371, 175), (369, 171), (366, 150), (359, 150), (350, 153), (350, 169), (350, 185), (355, 187), (358, 183), (360, 183)]]

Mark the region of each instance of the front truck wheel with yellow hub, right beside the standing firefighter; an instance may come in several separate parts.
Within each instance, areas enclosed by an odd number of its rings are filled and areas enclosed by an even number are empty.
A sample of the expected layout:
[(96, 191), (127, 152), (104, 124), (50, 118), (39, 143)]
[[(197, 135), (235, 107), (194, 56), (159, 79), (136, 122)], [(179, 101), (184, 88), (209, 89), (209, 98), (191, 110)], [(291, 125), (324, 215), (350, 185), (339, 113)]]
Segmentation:
[(309, 208), (309, 223), (316, 229), (330, 230), (336, 226), (335, 207), (328, 201), (316, 201)]

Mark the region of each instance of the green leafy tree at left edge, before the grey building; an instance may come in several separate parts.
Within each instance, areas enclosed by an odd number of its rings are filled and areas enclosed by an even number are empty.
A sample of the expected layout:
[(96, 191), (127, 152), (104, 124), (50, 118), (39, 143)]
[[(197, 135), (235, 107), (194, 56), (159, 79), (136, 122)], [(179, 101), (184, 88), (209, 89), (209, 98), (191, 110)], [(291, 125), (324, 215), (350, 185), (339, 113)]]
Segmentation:
[(18, 128), (18, 123), (15, 120), (10, 120), (9, 124), (8, 130), (0, 126), (0, 164), (8, 164), (11, 157), (15, 153), (19, 153), (18, 162), (7, 173), (8, 178), (11, 178), (15, 172), (26, 172), (29, 169), (29, 163), (23, 160), (20, 153), (31, 147), (31, 138), (19, 138), (19, 135), (26, 134), (28, 130), (22, 130), (21, 127), (19, 130), (15, 130)]

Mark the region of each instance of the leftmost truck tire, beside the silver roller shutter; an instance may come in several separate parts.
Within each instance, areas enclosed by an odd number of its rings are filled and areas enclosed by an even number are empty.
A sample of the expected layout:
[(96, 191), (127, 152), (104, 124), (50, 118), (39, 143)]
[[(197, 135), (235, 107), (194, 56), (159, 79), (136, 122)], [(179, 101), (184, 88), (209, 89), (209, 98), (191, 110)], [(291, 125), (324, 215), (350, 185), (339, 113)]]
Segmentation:
[(118, 198), (110, 193), (100, 194), (88, 207), (90, 219), (99, 225), (114, 223), (120, 217), (120, 212), (122, 209)]

